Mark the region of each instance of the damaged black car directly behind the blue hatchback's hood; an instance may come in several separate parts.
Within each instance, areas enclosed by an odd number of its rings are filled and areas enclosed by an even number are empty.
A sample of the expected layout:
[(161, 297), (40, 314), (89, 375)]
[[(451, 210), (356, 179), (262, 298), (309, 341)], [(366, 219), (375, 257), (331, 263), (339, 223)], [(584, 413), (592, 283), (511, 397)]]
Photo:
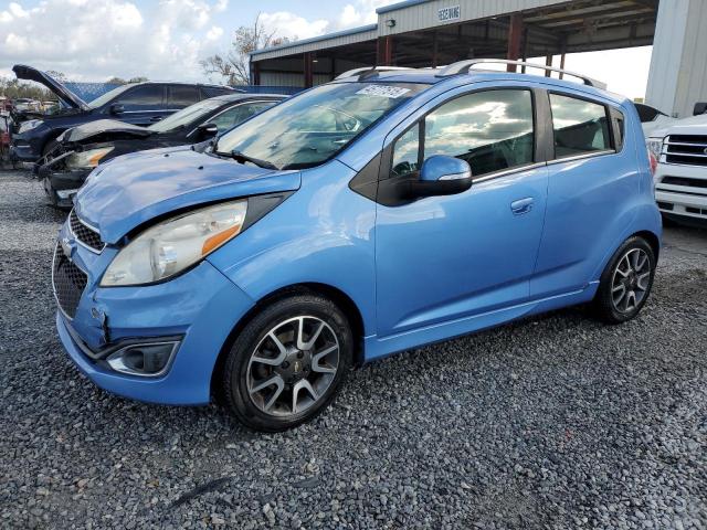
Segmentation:
[(114, 119), (81, 125), (57, 138), (55, 147), (35, 165), (35, 172), (43, 180), (50, 202), (70, 209), (73, 195), (99, 163), (128, 152), (208, 141), (285, 97), (276, 94), (212, 97), (149, 127)]

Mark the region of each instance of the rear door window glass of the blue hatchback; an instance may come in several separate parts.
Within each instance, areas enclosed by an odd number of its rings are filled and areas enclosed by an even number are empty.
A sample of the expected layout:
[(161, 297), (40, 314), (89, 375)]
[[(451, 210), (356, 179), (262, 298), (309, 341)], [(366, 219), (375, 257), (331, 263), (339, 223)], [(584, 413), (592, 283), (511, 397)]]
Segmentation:
[(606, 108), (576, 97), (550, 94), (555, 158), (611, 149)]

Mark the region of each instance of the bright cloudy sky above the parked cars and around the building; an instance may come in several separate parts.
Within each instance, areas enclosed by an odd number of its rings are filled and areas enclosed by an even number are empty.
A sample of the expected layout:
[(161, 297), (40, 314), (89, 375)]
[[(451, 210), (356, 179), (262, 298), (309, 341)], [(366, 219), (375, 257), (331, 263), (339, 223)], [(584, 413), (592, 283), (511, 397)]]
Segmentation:
[[(199, 60), (226, 52), (233, 30), (261, 13), (268, 31), (307, 39), (377, 21), (398, 0), (0, 0), (0, 75), (24, 63), (72, 81), (214, 81)], [(570, 54), (566, 68), (642, 97), (651, 46)], [(559, 65), (559, 57), (555, 64)]]

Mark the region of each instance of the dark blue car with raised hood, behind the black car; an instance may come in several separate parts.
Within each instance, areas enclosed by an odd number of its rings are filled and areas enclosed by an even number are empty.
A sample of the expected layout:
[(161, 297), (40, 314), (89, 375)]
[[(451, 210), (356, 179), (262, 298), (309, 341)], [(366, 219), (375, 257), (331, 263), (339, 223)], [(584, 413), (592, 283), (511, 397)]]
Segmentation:
[(202, 99), (240, 92), (220, 85), (128, 83), (86, 103), (44, 72), (22, 64), (15, 64), (12, 71), (18, 80), (44, 85), (62, 103), (60, 110), (49, 116), (34, 113), (13, 117), (18, 128), (12, 134), (10, 158), (15, 162), (35, 162), (55, 147), (59, 135), (77, 125), (113, 118), (147, 126)]

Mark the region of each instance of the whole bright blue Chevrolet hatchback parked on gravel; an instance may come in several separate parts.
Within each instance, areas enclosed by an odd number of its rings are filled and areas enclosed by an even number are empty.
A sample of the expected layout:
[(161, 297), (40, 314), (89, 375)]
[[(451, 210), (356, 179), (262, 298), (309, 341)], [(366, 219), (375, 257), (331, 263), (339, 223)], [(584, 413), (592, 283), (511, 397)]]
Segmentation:
[(635, 317), (661, 218), (633, 105), (477, 63), (352, 71), (94, 170), (53, 262), (81, 371), (281, 431), (352, 364), (576, 304)]

